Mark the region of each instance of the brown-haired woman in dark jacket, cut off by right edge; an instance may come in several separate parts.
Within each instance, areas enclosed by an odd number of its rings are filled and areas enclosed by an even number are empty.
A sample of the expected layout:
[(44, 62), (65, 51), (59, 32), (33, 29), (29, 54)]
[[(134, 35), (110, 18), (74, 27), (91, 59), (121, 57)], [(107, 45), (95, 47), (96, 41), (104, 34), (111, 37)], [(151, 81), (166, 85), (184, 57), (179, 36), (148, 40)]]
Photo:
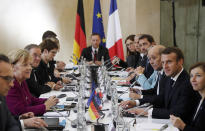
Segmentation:
[[(195, 91), (200, 94), (192, 123), (186, 124), (179, 117), (170, 115), (172, 124), (182, 131), (205, 131), (205, 62), (200, 62), (190, 68), (190, 81)], [(192, 103), (190, 103), (192, 104)]]

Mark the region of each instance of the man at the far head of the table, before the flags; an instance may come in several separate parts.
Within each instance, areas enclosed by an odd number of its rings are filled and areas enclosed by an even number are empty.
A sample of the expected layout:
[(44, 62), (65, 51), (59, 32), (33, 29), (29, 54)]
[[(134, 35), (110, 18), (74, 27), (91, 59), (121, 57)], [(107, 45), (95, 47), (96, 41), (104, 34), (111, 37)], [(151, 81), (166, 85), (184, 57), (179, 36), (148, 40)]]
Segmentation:
[[(108, 49), (100, 46), (101, 38), (97, 33), (91, 35), (91, 46), (84, 48), (81, 57), (85, 58), (88, 64), (102, 65), (101, 59), (104, 57), (104, 61), (109, 61), (110, 56)], [(111, 63), (110, 63), (111, 64)]]

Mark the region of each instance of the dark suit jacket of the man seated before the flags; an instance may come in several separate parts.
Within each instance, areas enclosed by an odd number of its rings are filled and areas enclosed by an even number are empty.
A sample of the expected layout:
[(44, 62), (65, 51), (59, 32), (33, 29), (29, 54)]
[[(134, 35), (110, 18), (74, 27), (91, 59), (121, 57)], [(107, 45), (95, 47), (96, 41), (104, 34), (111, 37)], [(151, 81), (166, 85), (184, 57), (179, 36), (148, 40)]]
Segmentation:
[[(83, 58), (86, 58), (86, 61), (92, 61), (92, 46), (84, 48), (82, 53), (81, 53), (81, 57), (82, 56), (83, 56)], [(103, 47), (103, 46), (99, 46), (97, 60), (101, 61), (102, 56), (104, 56), (104, 61), (107, 61), (110, 59), (108, 49)]]

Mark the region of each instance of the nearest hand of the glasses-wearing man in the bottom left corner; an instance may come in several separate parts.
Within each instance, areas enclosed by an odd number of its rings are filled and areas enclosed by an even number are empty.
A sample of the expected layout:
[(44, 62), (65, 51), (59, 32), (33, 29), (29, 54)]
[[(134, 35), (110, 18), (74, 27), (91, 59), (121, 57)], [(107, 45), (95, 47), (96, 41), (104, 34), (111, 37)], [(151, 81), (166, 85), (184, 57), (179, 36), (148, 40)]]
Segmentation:
[(41, 128), (41, 127), (47, 127), (48, 125), (45, 123), (44, 120), (33, 117), (29, 119), (24, 119), (23, 120), (24, 126), (25, 127), (35, 127), (35, 128)]

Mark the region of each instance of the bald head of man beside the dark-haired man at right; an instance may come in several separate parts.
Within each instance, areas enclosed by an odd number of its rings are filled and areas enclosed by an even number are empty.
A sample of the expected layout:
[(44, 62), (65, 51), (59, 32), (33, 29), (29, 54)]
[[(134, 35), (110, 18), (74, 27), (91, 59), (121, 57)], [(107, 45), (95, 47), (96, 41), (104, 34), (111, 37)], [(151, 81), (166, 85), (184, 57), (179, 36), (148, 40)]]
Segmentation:
[(163, 45), (155, 45), (148, 51), (148, 58), (151, 66), (154, 70), (161, 70), (162, 63), (161, 63), (161, 52), (165, 49)]

